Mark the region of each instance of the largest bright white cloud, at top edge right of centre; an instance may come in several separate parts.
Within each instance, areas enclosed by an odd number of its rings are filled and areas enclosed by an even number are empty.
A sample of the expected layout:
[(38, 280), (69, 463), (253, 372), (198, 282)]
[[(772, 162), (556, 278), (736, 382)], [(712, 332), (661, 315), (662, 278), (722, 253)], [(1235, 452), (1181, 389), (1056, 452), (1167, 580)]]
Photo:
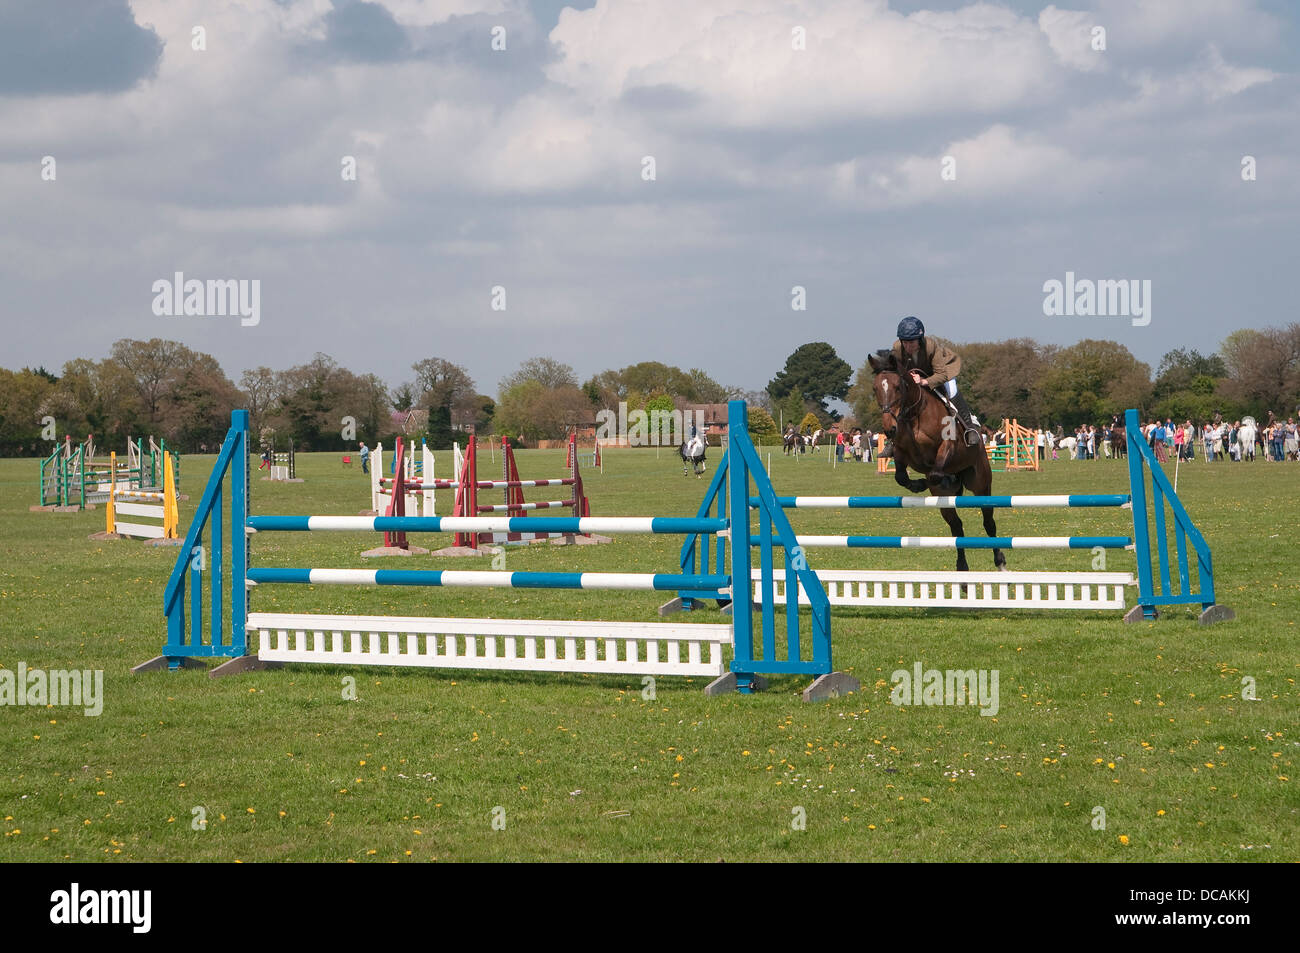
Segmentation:
[(989, 112), (1040, 100), (1054, 72), (1039, 27), (988, 4), (904, 16), (883, 0), (598, 0), (566, 10), (551, 40), (547, 75), (585, 99), (673, 87), (725, 126)]

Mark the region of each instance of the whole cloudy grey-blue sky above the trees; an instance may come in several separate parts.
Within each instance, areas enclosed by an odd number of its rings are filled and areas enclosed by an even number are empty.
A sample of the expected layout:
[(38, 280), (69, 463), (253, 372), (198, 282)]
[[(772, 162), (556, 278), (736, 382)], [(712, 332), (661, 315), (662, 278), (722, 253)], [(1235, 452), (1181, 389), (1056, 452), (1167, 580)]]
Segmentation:
[[(0, 365), (165, 337), (235, 380), (324, 351), (757, 389), (909, 313), (1213, 350), (1297, 320), (1297, 10), (0, 0)], [(259, 281), (259, 322), (155, 313), (177, 272)], [(1066, 272), (1150, 281), (1150, 322), (1044, 315)]]

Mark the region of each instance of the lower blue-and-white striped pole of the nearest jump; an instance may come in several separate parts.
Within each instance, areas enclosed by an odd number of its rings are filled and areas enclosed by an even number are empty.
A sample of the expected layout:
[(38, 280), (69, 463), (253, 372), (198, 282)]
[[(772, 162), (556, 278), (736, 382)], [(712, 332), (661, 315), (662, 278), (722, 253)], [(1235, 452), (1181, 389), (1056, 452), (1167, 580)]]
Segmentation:
[(510, 589), (723, 590), (731, 576), (675, 572), (476, 572), (462, 569), (266, 569), (244, 573), (252, 585), (502, 586)]

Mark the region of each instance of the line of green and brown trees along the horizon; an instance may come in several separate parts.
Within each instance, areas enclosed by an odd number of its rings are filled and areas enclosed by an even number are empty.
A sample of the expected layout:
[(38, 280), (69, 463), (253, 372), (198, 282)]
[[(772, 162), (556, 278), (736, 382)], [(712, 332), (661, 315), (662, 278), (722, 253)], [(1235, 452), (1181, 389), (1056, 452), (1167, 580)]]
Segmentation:
[[(1035, 428), (1072, 429), (1110, 420), (1128, 407), (1143, 419), (1205, 423), (1247, 413), (1286, 419), (1300, 404), (1300, 324), (1232, 332), (1217, 352), (1173, 348), (1154, 376), (1113, 341), (1069, 347), (1028, 338), (952, 343), (962, 358), (959, 384), (987, 423), (1015, 417)], [(558, 439), (588, 426), (602, 410), (667, 410), (745, 399), (757, 438), (779, 438), (781, 425), (879, 428), (871, 371), (862, 355), (853, 365), (826, 342), (797, 347), (766, 389), (746, 391), (707, 372), (659, 361), (602, 371), (580, 382), (573, 368), (533, 358), (481, 393), (464, 367), (424, 358), (412, 377), (390, 386), (333, 358), (276, 371), (257, 367), (231, 381), (211, 355), (174, 341), (118, 341), (109, 356), (68, 361), (61, 373), (46, 368), (0, 368), (0, 455), (46, 454), (53, 441), (94, 434), (101, 447), (127, 437), (165, 438), (182, 452), (220, 447), (230, 411), (246, 407), (255, 434), (299, 450), (355, 450), (404, 432), (446, 447), (456, 433), (506, 433), (529, 445)], [(849, 407), (841, 415), (832, 402)]]

